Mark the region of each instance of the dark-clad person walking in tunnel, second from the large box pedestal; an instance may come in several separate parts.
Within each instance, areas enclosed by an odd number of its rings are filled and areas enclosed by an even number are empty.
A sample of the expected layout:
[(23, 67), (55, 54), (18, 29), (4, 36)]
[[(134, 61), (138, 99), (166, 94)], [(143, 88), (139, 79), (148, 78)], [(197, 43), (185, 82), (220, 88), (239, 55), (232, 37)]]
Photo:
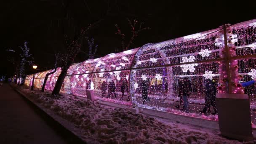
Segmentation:
[(185, 77), (183, 80), (181, 80), (179, 82), (179, 97), (180, 97), (180, 101), (179, 101), (179, 106), (176, 106), (177, 108), (179, 108), (182, 104), (183, 101), (183, 106), (184, 106), (184, 110), (185, 112), (189, 112), (189, 95), (192, 92), (192, 87), (191, 87), (191, 83), (189, 81), (189, 79), (187, 77)]

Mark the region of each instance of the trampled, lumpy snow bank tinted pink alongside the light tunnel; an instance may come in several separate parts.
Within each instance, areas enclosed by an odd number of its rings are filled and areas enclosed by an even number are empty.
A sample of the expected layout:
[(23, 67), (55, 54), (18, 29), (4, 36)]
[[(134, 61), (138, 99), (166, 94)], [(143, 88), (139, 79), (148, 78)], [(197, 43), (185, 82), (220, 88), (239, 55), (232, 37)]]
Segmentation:
[[(22, 89), (28, 96), (57, 115), (74, 123), (83, 137), (108, 144), (236, 144), (213, 133), (187, 125), (164, 123), (157, 118), (136, 114), (127, 109), (109, 108), (98, 102), (83, 101), (70, 95)], [(253, 144), (253, 142), (251, 142)]]

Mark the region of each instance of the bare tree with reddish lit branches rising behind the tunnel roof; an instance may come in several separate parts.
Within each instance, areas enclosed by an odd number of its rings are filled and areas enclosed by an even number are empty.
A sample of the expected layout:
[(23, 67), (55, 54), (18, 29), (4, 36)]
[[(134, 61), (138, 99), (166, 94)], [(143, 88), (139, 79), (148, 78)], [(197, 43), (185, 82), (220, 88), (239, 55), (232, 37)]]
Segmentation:
[[(123, 51), (127, 51), (128, 48), (131, 47), (131, 44), (133, 44), (134, 39), (139, 35), (139, 33), (141, 31), (150, 29), (149, 27), (142, 27), (143, 22), (139, 22), (136, 19), (134, 19), (133, 21), (130, 21), (129, 19), (127, 19), (127, 20), (129, 22), (129, 24), (131, 25), (131, 32), (132, 32), (131, 39), (128, 41), (127, 45), (125, 45), (125, 34), (123, 34), (121, 32), (121, 29), (118, 27), (118, 25), (115, 24), (115, 27), (117, 28), (116, 34), (120, 35), (120, 37), (121, 37), (121, 43), (122, 43), (121, 47), (122, 47)], [(138, 22), (139, 22), (139, 27), (136, 27), (136, 24), (138, 24)]]

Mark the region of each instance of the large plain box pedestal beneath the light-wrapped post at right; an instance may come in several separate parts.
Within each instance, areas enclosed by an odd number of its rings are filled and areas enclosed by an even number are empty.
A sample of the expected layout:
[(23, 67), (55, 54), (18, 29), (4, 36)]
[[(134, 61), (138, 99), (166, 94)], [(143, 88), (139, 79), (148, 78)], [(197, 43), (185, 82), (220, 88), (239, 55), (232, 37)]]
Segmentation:
[(247, 94), (216, 94), (221, 135), (242, 141), (253, 140), (250, 101)]

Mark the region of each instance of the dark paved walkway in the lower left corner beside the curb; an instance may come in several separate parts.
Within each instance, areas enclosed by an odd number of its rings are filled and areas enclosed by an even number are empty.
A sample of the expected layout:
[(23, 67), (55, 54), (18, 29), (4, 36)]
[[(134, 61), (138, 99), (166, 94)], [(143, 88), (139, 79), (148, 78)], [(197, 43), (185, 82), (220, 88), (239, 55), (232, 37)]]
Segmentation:
[(46, 119), (10, 85), (0, 86), (0, 144), (69, 143)]

